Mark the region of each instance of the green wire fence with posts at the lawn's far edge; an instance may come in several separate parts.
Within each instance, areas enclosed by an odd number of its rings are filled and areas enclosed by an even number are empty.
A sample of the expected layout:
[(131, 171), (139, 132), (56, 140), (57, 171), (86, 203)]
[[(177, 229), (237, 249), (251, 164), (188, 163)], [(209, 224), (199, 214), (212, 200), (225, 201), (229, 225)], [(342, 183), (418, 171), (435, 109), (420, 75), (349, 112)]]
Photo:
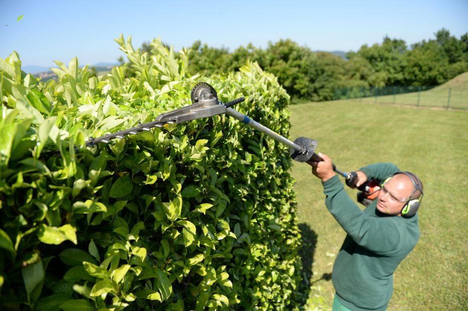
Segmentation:
[(376, 104), (468, 110), (468, 88), (464, 86), (346, 88), (335, 90), (334, 99), (359, 99), (360, 102)]

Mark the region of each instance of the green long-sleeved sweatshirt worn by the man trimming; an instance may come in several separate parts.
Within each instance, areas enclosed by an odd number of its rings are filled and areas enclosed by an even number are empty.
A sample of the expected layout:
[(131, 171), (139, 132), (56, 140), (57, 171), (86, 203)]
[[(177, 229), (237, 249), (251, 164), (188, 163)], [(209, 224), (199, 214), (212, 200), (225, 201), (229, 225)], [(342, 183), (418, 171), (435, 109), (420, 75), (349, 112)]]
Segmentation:
[[(399, 169), (390, 163), (361, 168), (368, 179), (383, 181)], [(419, 240), (418, 215), (388, 216), (364, 210), (343, 189), (338, 176), (323, 182), (325, 205), (347, 236), (333, 265), (337, 298), (351, 310), (385, 310), (393, 293), (393, 272)]]

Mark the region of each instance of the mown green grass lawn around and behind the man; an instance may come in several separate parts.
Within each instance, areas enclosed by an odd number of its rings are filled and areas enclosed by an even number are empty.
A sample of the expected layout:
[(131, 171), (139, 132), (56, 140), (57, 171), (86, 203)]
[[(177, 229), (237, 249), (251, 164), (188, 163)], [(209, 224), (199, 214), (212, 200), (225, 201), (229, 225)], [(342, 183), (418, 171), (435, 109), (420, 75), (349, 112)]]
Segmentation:
[[(389, 310), (468, 308), (468, 111), (408, 109), (359, 100), (290, 107), (290, 135), (318, 141), (343, 171), (392, 162), (424, 183), (421, 238), (394, 274)], [(325, 207), (323, 188), (307, 164), (292, 175), (303, 240), (308, 307), (331, 309), (332, 265), (344, 231)], [(345, 187), (352, 198), (356, 191)]]

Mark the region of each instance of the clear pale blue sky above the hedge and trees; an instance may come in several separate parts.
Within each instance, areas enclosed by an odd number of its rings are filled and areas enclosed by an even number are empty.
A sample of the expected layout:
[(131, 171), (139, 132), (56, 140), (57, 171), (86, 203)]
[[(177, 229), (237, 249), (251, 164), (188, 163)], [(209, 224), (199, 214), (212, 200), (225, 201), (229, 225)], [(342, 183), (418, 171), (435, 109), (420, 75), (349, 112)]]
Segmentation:
[(0, 0), (0, 57), (17, 51), (23, 65), (47, 67), (75, 56), (115, 62), (121, 33), (135, 48), (155, 37), (176, 50), (201, 40), (230, 51), (289, 38), (312, 50), (356, 51), (386, 35), (409, 46), (442, 28), (457, 38), (468, 32), (468, 0)]

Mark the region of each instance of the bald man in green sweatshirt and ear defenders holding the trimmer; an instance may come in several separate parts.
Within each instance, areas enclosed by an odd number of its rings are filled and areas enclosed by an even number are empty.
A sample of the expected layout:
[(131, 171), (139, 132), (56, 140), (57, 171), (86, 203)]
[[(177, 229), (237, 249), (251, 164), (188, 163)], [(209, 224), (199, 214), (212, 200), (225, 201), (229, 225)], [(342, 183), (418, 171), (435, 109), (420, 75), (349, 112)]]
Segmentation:
[(420, 232), (416, 211), (423, 185), (414, 174), (390, 163), (361, 168), (356, 186), (382, 182), (379, 196), (364, 210), (343, 189), (330, 158), (308, 163), (322, 180), (325, 205), (347, 236), (333, 265), (333, 310), (385, 310), (393, 292), (393, 272), (413, 250)]

